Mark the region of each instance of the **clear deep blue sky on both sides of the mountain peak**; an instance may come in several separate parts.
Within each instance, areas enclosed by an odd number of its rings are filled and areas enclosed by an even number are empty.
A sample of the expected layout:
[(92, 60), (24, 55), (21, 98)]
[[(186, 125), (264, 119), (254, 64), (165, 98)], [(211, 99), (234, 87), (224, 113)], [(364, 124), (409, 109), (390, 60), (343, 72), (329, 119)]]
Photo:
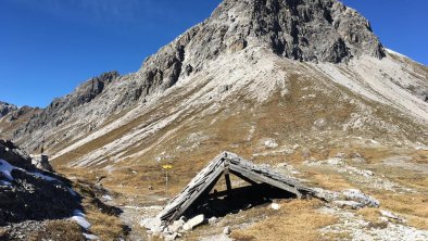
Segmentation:
[[(137, 71), (221, 0), (0, 0), (0, 100), (46, 106), (108, 71)], [(388, 48), (428, 64), (426, 0), (344, 0)]]

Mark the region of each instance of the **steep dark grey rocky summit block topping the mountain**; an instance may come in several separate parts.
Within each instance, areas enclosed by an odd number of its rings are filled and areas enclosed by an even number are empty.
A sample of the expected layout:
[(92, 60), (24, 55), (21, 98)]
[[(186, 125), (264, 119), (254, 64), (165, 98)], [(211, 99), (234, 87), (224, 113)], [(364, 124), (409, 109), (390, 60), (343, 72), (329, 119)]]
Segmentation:
[(225, 42), (256, 38), (298, 61), (385, 56), (368, 21), (338, 0), (225, 0), (210, 22), (222, 29)]

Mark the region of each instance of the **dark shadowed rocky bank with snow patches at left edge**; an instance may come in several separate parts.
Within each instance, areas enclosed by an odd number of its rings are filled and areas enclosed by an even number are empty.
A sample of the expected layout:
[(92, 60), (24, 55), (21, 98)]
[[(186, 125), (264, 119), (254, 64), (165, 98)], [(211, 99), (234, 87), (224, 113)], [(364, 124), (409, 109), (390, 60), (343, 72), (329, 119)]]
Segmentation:
[(0, 140), (0, 226), (66, 218), (81, 208), (67, 180), (43, 173), (10, 141)]

